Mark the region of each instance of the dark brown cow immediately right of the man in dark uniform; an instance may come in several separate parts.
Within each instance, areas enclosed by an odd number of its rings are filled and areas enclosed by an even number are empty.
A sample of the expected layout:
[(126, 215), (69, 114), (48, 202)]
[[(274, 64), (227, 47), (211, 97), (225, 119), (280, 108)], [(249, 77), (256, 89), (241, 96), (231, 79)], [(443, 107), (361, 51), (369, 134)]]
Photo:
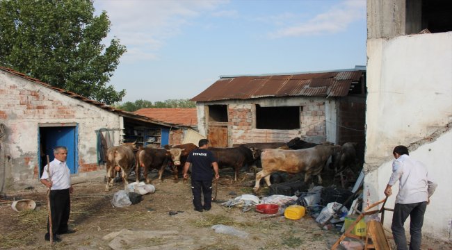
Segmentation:
[(234, 168), (234, 181), (237, 181), (240, 169), (244, 165), (252, 164), (255, 160), (252, 149), (248, 149), (247, 147), (243, 146), (232, 148), (209, 147), (207, 148), (207, 150), (213, 153), (213, 156), (215, 156), (219, 168)]

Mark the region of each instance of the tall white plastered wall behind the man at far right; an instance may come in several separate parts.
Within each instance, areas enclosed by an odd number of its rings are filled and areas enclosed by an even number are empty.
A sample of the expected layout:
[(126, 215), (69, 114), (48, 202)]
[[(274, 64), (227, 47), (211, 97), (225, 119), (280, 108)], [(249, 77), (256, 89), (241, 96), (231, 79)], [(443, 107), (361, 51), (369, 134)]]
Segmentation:
[[(398, 144), (409, 147), (439, 185), (423, 233), (442, 240), (451, 240), (452, 224), (451, 44), (452, 32), (367, 40), (364, 200), (383, 198), (392, 149)], [(395, 194), (387, 207), (394, 206), (394, 199)], [(387, 214), (385, 226), (392, 219), (392, 213)]]

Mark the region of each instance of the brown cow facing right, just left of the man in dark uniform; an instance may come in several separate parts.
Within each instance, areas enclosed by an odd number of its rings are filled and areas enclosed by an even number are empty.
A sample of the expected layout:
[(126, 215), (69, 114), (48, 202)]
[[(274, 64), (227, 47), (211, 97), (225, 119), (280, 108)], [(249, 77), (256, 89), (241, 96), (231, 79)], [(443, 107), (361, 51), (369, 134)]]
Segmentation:
[[(147, 177), (147, 173), (151, 169), (159, 169), (159, 181), (162, 181), (163, 171), (168, 165), (170, 160), (175, 166), (181, 164), (180, 157), (183, 149), (151, 149), (145, 148), (137, 152), (136, 157), (136, 181), (140, 181), (140, 167), (143, 167), (143, 175), (145, 176), (145, 182), (151, 183), (150, 178)], [(175, 176), (175, 182), (177, 182), (177, 172)]]

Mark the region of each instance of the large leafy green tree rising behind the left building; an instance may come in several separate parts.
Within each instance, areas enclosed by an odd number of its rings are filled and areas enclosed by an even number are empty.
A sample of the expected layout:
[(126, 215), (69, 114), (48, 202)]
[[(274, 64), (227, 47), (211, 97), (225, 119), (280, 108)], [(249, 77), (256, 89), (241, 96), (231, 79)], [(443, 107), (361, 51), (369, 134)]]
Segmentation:
[(110, 81), (126, 48), (106, 12), (90, 0), (0, 0), (0, 65), (107, 104), (122, 100)]

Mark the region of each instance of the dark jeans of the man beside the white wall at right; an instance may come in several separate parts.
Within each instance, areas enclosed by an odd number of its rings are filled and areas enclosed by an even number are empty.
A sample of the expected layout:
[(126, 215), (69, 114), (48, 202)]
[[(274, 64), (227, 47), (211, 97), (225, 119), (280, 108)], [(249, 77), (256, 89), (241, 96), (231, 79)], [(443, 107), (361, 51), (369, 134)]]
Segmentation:
[(392, 235), (396, 242), (397, 250), (407, 250), (407, 239), (405, 237), (405, 228), (403, 224), (410, 216), (410, 250), (419, 250), (421, 248), (423, 214), (426, 213), (427, 202), (418, 202), (410, 204), (396, 203), (394, 206), (394, 215), (392, 216)]

